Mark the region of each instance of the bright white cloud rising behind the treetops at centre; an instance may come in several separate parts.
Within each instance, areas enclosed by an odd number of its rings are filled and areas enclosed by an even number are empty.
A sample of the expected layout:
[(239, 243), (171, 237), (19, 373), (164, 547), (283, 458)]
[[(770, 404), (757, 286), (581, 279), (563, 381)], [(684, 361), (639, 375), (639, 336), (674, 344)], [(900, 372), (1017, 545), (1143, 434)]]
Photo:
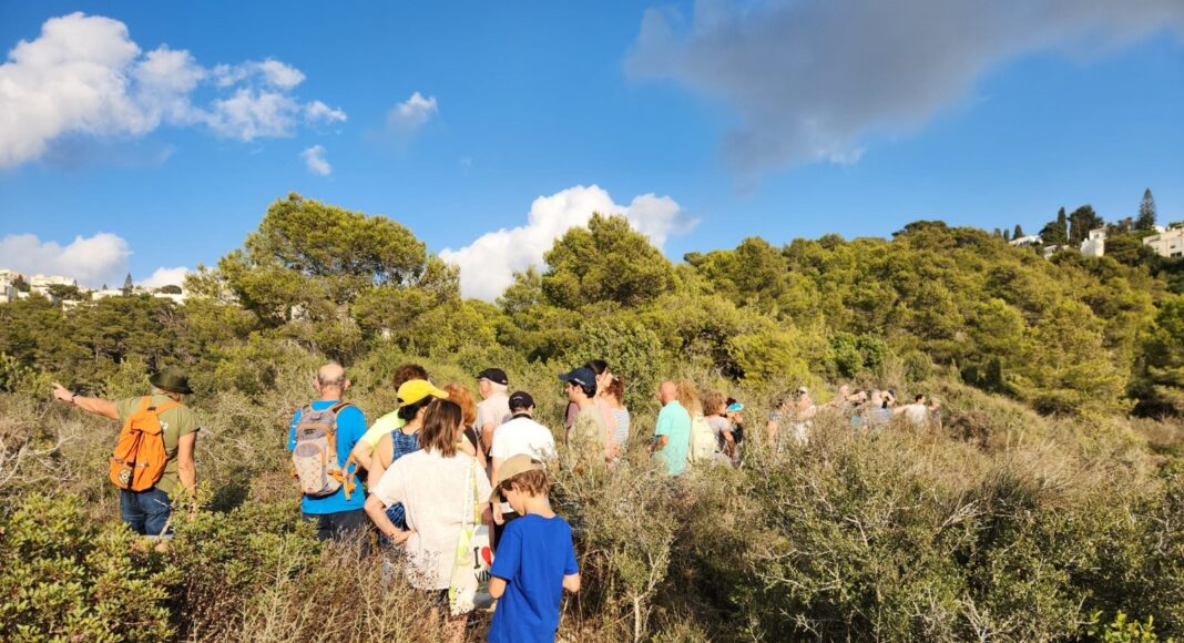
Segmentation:
[(514, 282), (514, 271), (541, 266), (555, 239), (586, 225), (593, 212), (624, 214), (658, 247), (670, 234), (688, 232), (697, 224), (670, 197), (642, 194), (623, 206), (599, 186), (575, 186), (535, 199), (526, 225), (488, 232), (459, 250), (445, 249), (440, 258), (461, 268), (465, 297), (494, 301)]

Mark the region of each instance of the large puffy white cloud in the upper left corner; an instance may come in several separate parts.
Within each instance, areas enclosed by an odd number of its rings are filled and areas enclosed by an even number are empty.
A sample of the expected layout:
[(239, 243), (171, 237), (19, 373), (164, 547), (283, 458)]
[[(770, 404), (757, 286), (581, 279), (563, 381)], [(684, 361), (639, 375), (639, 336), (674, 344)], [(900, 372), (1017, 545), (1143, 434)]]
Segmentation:
[[(0, 65), (0, 169), (40, 157), (65, 135), (142, 136), (169, 124), (251, 141), (290, 136), (302, 122), (346, 120), (340, 109), (295, 97), (303, 81), (274, 59), (206, 69), (167, 45), (143, 53), (127, 25), (102, 15), (51, 18)], [(204, 84), (218, 96), (198, 104)]]

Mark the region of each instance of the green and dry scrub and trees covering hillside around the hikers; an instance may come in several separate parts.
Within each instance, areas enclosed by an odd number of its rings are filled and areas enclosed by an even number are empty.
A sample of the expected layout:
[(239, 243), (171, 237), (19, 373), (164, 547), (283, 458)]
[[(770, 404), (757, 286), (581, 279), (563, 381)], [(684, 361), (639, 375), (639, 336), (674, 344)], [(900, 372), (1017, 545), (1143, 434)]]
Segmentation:
[[(596, 217), (497, 304), (466, 301), (405, 227), (291, 195), (184, 306), (0, 307), (0, 638), (433, 639), (401, 574), (301, 523), (284, 436), (313, 368), (342, 361), (374, 417), (404, 361), (470, 386), (501, 366), (559, 427), (555, 373), (593, 356), (633, 436), (612, 470), (553, 470), (584, 574), (562, 639), (1184, 637), (1178, 266), (924, 221), (686, 259)], [(198, 391), (201, 510), (157, 552), (118, 521), (117, 426), (49, 382), (133, 396), (169, 364)], [(675, 375), (744, 400), (741, 468), (648, 461)], [(780, 391), (839, 381), (935, 396), (942, 423), (760, 444)]]

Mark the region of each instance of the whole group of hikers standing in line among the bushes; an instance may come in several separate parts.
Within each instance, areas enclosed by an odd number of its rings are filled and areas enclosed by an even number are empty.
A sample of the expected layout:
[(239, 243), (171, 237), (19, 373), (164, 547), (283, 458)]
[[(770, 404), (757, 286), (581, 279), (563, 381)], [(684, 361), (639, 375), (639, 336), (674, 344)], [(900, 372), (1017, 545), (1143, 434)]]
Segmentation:
[[(199, 426), (181, 404), (193, 392), (182, 371), (168, 367), (149, 380), (150, 394), (140, 398), (88, 398), (58, 384), (53, 396), (122, 424), (110, 461), (121, 517), (141, 535), (167, 539), (174, 501), (195, 503)], [(363, 548), (377, 531), (382, 552), (404, 557), (408, 583), (435, 612), (450, 615), (449, 638), (463, 636), (470, 611), (489, 607), (489, 641), (553, 641), (562, 592), (580, 589), (572, 529), (548, 501), (547, 463), (560, 457), (555, 433), (534, 419), (530, 393), (510, 392), (504, 371), (487, 368), (476, 380), (480, 403), (464, 384), (438, 387), (422, 366), (401, 365), (392, 382), (397, 409), (367, 426), (345, 399), (345, 368), (321, 366), (316, 399), (295, 412), (288, 431), (303, 519), (321, 540)], [(617, 465), (631, 430), (624, 380), (592, 360), (559, 382), (568, 401), (565, 465)], [(669, 475), (699, 461), (739, 465), (742, 404), (719, 391), (700, 396), (687, 380), (662, 382), (657, 396), (646, 443)], [(921, 425), (937, 418), (938, 406), (925, 396), (896, 405), (892, 391), (852, 393), (845, 385), (816, 405), (803, 387), (771, 413), (767, 444), (809, 442), (813, 422), (828, 413), (854, 426), (882, 426), (896, 414)]]

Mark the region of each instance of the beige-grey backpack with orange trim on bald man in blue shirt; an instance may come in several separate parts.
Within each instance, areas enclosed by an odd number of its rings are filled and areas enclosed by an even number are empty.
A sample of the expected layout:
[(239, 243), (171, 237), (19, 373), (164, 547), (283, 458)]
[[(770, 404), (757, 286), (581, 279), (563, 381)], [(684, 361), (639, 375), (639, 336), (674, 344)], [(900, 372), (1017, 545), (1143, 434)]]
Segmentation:
[(341, 401), (323, 411), (314, 411), (311, 406), (301, 410), (292, 469), (305, 496), (332, 496), (345, 487), (349, 500), (354, 490), (353, 474), (347, 472), (353, 458), (343, 467), (337, 462), (337, 413), (346, 406), (349, 404)]

